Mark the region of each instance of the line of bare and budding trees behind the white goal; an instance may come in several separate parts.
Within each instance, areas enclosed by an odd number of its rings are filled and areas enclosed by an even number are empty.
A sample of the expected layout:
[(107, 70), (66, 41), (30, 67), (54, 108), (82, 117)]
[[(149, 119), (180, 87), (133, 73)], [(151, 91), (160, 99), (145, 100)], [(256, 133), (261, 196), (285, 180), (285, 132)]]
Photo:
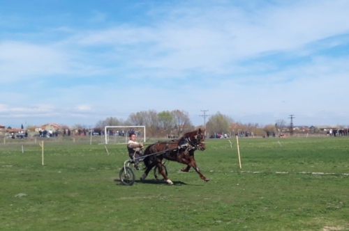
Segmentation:
[[(95, 129), (103, 130), (105, 126), (145, 126), (148, 136), (163, 137), (166, 135), (181, 136), (190, 132), (193, 126), (189, 113), (183, 110), (161, 111), (156, 110), (138, 111), (131, 113), (127, 120), (119, 120), (116, 117), (108, 117), (105, 120), (99, 120)], [(202, 125), (201, 127), (205, 127)], [(254, 136), (265, 136), (266, 132), (279, 133), (286, 127), (285, 120), (276, 120), (274, 125), (259, 125), (258, 123), (235, 122), (230, 116), (225, 116), (219, 111), (211, 115), (207, 120), (206, 131), (209, 135), (232, 134), (240, 132), (249, 132)]]

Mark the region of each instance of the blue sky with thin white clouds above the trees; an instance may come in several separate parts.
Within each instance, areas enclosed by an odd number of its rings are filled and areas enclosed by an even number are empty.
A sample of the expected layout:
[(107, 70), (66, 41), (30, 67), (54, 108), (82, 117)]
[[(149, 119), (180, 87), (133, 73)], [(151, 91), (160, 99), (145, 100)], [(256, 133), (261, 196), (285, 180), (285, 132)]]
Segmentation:
[(154, 109), (349, 125), (349, 1), (0, 0), (0, 124)]

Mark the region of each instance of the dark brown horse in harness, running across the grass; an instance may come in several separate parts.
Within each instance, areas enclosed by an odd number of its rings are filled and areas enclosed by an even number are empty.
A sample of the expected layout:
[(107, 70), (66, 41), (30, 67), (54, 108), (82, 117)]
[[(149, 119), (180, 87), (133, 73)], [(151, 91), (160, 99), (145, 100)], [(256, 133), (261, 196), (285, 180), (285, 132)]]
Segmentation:
[[(144, 150), (144, 164), (146, 166), (146, 170), (143, 173), (140, 180), (144, 180), (151, 168), (154, 166), (158, 166), (159, 172), (168, 184), (172, 185), (173, 182), (168, 179), (167, 175), (165, 175), (165, 171), (163, 170), (162, 161), (163, 159), (168, 159), (170, 161), (177, 161), (181, 164), (186, 164), (187, 167), (182, 169), (182, 171), (188, 171), (189, 168), (193, 167), (196, 172), (200, 175), (202, 180), (208, 182), (209, 179), (202, 175), (198, 166), (196, 166), (196, 162), (194, 159), (194, 151), (200, 150), (203, 151), (206, 149), (205, 145), (205, 130), (198, 129), (193, 132), (188, 132), (184, 134), (181, 138), (170, 141), (170, 142), (158, 142), (152, 145), (149, 145)], [(154, 154), (158, 153), (158, 154)], [(154, 155), (152, 155), (154, 154)]]

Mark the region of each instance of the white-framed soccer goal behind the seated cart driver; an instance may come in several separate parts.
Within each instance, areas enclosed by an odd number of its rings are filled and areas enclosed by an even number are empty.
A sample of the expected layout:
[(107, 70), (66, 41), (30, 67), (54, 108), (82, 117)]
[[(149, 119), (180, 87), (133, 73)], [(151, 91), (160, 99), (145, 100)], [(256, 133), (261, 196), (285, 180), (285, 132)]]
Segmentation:
[(104, 136), (105, 144), (108, 143), (127, 143), (128, 134), (135, 133), (137, 139), (145, 143), (145, 126), (105, 126)]

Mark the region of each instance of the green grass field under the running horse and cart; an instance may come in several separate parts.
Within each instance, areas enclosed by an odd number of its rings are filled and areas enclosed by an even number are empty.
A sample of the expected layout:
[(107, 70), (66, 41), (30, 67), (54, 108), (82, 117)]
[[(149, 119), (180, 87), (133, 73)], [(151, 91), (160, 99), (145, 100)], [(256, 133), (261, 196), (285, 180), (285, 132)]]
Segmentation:
[(125, 145), (47, 142), (42, 166), (38, 143), (2, 143), (1, 230), (349, 230), (349, 138), (242, 138), (241, 170), (231, 141), (195, 152), (209, 182), (170, 162), (174, 186), (114, 181)]

